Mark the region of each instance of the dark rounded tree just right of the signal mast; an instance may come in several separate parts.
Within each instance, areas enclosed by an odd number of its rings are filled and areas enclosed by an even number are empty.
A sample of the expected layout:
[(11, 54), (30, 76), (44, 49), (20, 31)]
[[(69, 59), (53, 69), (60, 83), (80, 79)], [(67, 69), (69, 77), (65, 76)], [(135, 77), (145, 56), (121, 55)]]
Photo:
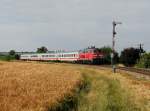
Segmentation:
[(140, 58), (140, 49), (126, 48), (121, 52), (120, 62), (125, 66), (133, 66)]

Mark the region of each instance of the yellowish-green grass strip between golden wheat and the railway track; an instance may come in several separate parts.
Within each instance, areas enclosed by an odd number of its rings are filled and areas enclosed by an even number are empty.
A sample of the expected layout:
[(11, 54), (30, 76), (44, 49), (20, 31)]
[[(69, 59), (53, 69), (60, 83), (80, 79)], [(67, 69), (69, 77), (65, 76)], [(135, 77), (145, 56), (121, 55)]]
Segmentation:
[(145, 111), (119, 80), (94, 70), (84, 70), (83, 77), (89, 87), (80, 93), (77, 111)]

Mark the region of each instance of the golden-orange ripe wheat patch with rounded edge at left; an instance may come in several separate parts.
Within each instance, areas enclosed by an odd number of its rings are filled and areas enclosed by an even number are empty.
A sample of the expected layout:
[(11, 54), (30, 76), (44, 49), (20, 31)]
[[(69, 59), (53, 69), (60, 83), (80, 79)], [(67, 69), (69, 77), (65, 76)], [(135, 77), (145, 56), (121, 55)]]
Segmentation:
[(0, 62), (0, 111), (46, 111), (80, 81), (80, 72), (72, 67)]

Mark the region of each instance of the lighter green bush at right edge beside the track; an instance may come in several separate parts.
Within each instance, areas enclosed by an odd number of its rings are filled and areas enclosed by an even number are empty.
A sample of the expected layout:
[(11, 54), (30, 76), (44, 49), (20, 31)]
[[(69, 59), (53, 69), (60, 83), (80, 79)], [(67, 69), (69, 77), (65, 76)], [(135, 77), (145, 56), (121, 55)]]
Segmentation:
[(137, 63), (137, 67), (150, 68), (150, 53), (145, 53), (140, 57)]

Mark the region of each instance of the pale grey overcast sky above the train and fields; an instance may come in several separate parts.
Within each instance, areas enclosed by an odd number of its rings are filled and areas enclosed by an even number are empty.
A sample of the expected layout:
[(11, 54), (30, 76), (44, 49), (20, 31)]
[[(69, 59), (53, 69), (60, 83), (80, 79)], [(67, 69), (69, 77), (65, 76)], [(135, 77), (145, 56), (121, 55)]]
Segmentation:
[(112, 45), (150, 51), (150, 0), (0, 0), (0, 52)]

